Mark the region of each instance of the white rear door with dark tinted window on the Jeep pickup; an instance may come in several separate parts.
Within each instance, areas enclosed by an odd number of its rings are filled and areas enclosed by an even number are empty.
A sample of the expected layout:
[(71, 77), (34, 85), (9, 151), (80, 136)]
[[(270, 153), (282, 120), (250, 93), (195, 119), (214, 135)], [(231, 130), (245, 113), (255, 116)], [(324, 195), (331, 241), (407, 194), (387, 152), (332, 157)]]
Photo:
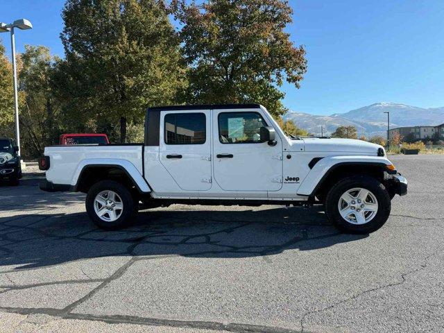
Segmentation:
[(210, 123), (210, 110), (160, 114), (160, 162), (185, 191), (211, 188)]

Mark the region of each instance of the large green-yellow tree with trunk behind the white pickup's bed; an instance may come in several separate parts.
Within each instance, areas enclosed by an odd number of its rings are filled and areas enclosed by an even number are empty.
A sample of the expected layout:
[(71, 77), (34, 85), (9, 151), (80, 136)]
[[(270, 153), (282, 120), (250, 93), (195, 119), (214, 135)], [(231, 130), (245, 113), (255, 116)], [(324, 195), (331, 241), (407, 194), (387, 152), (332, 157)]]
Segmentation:
[(67, 0), (65, 62), (56, 82), (69, 126), (142, 123), (149, 105), (176, 101), (185, 86), (179, 39), (161, 0)]

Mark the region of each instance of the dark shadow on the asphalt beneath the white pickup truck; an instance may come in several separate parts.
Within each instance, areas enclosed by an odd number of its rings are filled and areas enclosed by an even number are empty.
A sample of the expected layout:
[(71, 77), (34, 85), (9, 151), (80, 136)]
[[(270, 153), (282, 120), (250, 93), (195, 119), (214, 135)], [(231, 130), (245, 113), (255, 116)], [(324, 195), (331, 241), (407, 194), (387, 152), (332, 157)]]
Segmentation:
[(368, 237), (341, 234), (328, 223), (322, 207), (269, 207), (233, 211), (171, 206), (139, 212), (133, 225), (117, 231), (95, 228), (83, 212), (4, 217), (0, 266), (37, 268), (108, 256), (267, 259), (286, 250), (316, 250)]

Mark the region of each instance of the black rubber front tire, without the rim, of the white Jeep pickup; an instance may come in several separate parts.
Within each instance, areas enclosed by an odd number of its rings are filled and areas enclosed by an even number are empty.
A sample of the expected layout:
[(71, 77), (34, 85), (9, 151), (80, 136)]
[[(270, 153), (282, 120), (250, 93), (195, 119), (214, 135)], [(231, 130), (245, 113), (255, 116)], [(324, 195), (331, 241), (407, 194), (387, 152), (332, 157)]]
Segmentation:
[[(350, 189), (363, 188), (370, 191), (376, 198), (378, 208), (373, 219), (364, 224), (346, 221), (339, 213), (339, 200)], [(325, 198), (325, 213), (328, 219), (343, 232), (352, 234), (368, 234), (378, 230), (386, 223), (390, 215), (390, 195), (384, 185), (370, 176), (352, 176), (336, 182)], [(353, 215), (352, 215), (353, 216)]]

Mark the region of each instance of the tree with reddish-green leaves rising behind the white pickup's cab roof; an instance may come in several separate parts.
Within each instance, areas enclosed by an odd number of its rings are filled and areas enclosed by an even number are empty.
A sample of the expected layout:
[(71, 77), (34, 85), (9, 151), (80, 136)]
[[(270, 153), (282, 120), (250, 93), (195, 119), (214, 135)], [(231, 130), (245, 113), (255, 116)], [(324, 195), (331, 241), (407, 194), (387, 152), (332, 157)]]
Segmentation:
[(173, 0), (192, 103), (261, 103), (283, 114), (284, 79), (300, 86), (305, 50), (284, 32), (292, 10), (282, 0)]

